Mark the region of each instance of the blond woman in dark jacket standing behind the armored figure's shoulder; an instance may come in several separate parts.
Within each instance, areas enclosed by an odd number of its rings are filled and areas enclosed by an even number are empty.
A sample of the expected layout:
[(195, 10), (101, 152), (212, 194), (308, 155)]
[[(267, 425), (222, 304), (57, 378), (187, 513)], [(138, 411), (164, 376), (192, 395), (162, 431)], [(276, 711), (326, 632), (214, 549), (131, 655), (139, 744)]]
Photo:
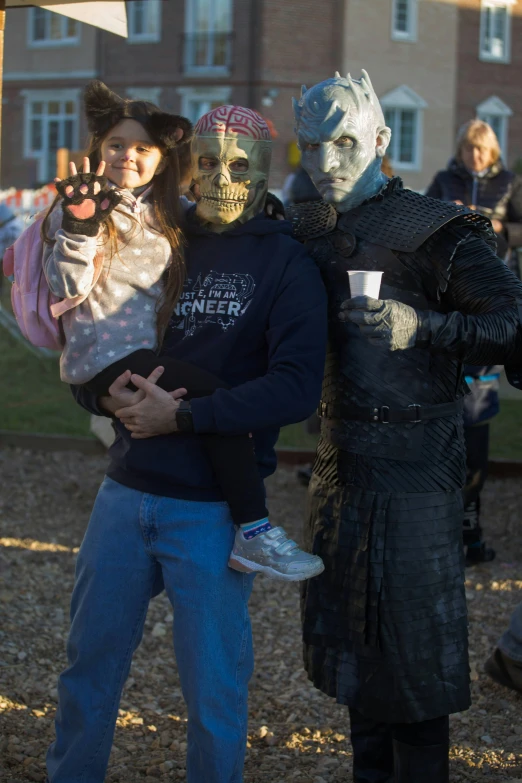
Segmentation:
[(508, 171), (493, 128), (470, 120), (460, 129), (457, 150), (426, 191), (488, 217), (497, 235), (497, 253), (519, 277), (516, 248), (522, 246), (522, 177)]

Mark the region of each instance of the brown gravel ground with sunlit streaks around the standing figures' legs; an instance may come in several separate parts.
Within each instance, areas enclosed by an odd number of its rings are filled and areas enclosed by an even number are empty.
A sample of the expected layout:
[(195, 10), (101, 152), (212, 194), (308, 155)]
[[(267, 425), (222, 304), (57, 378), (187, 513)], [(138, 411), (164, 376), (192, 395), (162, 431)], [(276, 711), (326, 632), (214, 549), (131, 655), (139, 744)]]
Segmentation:
[[(65, 665), (74, 560), (104, 459), (0, 450), (0, 781), (43, 781), (56, 679)], [(522, 701), (483, 662), (522, 600), (519, 482), (485, 493), (497, 560), (467, 572), (473, 707), (452, 716), (452, 781), (522, 783)], [(299, 538), (305, 491), (293, 471), (269, 482), (272, 515)], [(513, 538), (515, 536), (515, 538)], [(315, 691), (301, 666), (297, 587), (256, 580), (256, 672), (245, 783), (351, 780), (346, 710)], [(167, 599), (151, 603), (116, 730), (108, 781), (184, 780), (186, 710), (171, 651)], [(202, 781), (201, 783), (204, 783)]]

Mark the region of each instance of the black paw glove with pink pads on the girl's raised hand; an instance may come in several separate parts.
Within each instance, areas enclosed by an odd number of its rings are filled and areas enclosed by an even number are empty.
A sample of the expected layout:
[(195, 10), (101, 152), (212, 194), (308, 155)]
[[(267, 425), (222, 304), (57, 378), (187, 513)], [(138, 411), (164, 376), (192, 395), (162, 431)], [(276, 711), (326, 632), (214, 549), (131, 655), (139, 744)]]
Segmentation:
[(107, 177), (84, 172), (56, 183), (62, 196), (62, 228), (71, 234), (95, 237), (100, 224), (121, 201), (116, 190), (108, 188)]

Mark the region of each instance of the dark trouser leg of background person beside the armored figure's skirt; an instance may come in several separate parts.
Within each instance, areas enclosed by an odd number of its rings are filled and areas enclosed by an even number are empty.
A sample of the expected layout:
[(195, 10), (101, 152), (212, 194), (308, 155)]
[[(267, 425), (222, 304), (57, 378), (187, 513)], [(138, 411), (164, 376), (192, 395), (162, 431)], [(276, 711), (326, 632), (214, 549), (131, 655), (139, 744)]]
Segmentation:
[(482, 540), (480, 526), (480, 493), (488, 475), (489, 424), (465, 427), (466, 484), (464, 499), (464, 546), (478, 544)]

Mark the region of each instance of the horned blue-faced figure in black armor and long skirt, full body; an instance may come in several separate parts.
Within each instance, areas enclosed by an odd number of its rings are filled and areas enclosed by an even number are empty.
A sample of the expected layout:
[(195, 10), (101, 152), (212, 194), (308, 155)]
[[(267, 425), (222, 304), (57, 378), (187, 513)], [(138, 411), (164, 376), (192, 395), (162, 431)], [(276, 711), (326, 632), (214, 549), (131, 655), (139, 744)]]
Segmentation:
[[(294, 109), (322, 200), (289, 217), (330, 326), (305, 666), (349, 707), (357, 783), (444, 783), (448, 715), (470, 705), (462, 367), (516, 364), (522, 286), (486, 218), (382, 174), (391, 131), (365, 71), (304, 87)], [(383, 272), (378, 299), (350, 298), (354, 270)]]

